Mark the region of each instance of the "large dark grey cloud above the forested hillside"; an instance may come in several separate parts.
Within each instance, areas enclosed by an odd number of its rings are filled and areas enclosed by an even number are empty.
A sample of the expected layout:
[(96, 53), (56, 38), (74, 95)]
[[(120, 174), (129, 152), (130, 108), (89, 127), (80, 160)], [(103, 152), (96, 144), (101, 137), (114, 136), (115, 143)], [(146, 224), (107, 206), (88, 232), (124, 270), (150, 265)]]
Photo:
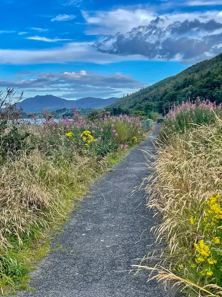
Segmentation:
[(140, 54), (149, 59), (181, 59), (208, 57), (222, 50), (222, 23), (214, 19), (177, 21), (167, 26), (156, 18), (148, 26), (133, 28), (126, 34), (109, 36), (95, 43), (97, 50), (117, 55)]

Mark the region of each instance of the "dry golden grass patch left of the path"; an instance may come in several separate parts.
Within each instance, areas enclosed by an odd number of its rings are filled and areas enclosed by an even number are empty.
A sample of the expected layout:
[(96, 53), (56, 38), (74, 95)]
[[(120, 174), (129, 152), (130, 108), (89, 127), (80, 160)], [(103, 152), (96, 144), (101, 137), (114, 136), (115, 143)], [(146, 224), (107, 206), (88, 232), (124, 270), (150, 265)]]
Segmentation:
[(30, 228), (45, 228), (65, 216), (69, 198), (81, 195), (85, 184), (101, 173), (102, 164), (92, 163), (74, 154), (69, 166), (56, 166), (37, 150), (5, 162), (0, 170), (0, 250), (12, 247), (13, 236), (22, 245), (21, 235), (29, 235)]

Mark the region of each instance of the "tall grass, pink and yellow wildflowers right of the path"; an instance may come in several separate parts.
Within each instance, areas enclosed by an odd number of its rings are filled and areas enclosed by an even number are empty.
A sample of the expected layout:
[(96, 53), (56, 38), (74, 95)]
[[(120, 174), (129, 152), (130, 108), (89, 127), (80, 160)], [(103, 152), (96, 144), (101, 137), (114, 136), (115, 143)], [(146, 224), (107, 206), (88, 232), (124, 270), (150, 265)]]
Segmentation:
[(175, 105), (154, 158), (146, 189), (159, 245), (139, 268), (185, 296), (222, 296), (222, 106)]

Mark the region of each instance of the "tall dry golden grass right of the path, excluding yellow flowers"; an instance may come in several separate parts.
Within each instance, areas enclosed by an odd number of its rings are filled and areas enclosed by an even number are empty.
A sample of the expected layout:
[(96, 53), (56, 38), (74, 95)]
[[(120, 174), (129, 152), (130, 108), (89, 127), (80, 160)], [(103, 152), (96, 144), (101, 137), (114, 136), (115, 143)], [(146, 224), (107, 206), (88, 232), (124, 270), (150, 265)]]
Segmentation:
[[(152, 232), (160, 249), (144, 258), (154, 263), (153, 268), (145, 268), (158, 270), (157, 279), (179, 282), (189, 296), (221, 296), (222, 288), (216, 281), (201, 278), (191, 263), (194, 243), (204, 239), (207, 232), (201, 225), (205, 201), (214, 193), (222, 193), (221, 121), (194, 126), (184, 134), (175, 134), (167, 143), (157, 140), (152, 157), (155, 162), (148, 164), (152, 174), (147, 180), (147, 205), (155, 213)], [(190, 223), (192, 216), (197, 220), (195, 226)]]

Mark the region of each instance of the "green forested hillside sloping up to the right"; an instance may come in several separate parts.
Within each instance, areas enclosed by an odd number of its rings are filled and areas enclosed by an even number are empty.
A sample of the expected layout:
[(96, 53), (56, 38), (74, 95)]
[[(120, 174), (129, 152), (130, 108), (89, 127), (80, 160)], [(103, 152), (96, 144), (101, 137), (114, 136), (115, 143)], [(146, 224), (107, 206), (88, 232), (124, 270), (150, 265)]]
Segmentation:
[(204, 60), (185, 69), (177, 75), (136, 93), (123, 97), (110, 106), (113, 114), (135, 110), (166, 113), (177, 101), (188, 98), (210, 99), (222, 102), (222, 53), (210, 60)]

